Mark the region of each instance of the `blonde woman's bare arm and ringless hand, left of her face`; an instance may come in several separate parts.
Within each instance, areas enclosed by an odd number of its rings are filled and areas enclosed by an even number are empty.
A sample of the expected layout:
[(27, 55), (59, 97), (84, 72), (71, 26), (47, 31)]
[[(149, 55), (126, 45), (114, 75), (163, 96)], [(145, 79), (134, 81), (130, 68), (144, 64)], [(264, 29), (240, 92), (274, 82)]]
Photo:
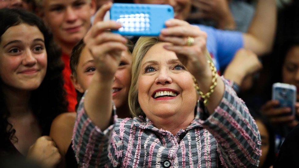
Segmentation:
[(101, 130), (106, 129), (112, 117), (112, 84), (118, 68), (121, 52), (127, 50), (127, 39), (119, 34), (107, 32), (118, 29), (121, 24), (103, 21), (111, 3), (103, 5), (97, 12), (93, 26), (84, 37), (86, 47), (94, 58), (96, 71), (85, 95), (84, 108), (88, 117)]

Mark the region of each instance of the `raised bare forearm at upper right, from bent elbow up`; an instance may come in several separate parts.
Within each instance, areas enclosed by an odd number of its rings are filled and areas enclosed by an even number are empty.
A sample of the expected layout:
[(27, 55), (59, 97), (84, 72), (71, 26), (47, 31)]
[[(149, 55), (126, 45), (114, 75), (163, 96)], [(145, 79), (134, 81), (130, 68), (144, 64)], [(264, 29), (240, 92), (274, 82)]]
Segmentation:
[(259, 0), (248, 33), (244, 33), (244, 48), (258, 55), (270, 52), (276, 31), (276, 20), (276, 1)]

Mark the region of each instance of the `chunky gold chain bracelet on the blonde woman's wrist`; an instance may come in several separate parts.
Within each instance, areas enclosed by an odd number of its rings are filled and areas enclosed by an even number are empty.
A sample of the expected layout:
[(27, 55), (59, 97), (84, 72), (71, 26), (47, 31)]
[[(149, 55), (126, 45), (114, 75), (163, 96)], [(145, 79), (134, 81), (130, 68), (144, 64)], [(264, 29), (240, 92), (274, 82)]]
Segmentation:
[(212, 77), (213, 77), (212, 78), (212, 85), (210, 86), (209, 92), (207, 92), (206, 94), (203, 94), (202, 91), (200, 91), (200, 89), (199, 89), (199, 85), (198, 85), (195, 77), (193, 76), (195, 90), (196, 90), (197, 94), (199, 94), (200, 97), (202, 97), (202, 99), (204, 99), (204, 101), (203, 101), (204, 105), (206, 105), (208, 103), (210, 95), (214, 92), (214, 88), (217, 86), (217, 77), (218, 77), (218, 73), (217, 73), (217, 70), (216, 70), (216, 67), (215, 67), (214, 63), (209, 61), (209, 60), (207, 62), (210, 65), (210, 69), (212, 71)]

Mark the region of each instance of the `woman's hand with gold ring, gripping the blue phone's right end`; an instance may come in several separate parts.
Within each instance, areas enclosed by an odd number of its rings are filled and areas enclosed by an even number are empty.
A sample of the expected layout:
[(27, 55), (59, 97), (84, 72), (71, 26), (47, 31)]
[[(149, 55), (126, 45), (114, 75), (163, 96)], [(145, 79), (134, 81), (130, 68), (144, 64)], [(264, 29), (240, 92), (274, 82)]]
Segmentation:
[[(159, 38), (168, 42), (165, 49), (176, 53), (180, 61), (196, 79), (211, 77), (211, 70), (206, 59), (206, 32), (186, 21), (171, 19), (165, 22), (166, 28), (161, 30)], [(188, 37), (194, 38), (194, 43), (187, 46)]]

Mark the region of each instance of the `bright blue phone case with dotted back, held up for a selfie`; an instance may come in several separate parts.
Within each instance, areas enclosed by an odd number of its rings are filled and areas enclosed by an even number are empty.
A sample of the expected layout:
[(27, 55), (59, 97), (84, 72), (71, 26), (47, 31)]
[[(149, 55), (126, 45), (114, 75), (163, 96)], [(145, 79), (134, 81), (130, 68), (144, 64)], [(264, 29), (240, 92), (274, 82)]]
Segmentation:
[(121, 35), (158, 36), (173, 17), (170, 5), (114, 3), (110, 9), (110, 19), (123, 25), (112, 32)]

